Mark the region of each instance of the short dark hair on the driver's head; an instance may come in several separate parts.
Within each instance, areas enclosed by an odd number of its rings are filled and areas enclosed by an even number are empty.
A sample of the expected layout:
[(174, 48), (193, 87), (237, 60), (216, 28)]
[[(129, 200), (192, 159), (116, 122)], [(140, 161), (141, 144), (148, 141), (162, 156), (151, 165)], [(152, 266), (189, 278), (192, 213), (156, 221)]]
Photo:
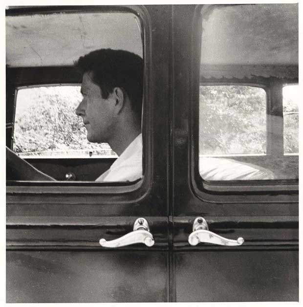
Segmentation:
[(99, 49), (81, 56), (75, 62), (82, 73), (92, 72), (92, 80), (101, 88), (102, 98), (107, 99), (115, 87), (128, 95), (131, 108), (141, 119), (143, 93), (143, 60), (125, 50)]

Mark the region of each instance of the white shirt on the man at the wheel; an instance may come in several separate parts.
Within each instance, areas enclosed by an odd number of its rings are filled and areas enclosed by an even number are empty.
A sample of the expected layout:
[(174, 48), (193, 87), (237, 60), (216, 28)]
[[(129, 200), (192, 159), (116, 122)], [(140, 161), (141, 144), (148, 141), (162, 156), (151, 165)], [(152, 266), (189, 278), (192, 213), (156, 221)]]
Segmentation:
[(96, 181), (134, 181), (142, 178), (142, 133)]

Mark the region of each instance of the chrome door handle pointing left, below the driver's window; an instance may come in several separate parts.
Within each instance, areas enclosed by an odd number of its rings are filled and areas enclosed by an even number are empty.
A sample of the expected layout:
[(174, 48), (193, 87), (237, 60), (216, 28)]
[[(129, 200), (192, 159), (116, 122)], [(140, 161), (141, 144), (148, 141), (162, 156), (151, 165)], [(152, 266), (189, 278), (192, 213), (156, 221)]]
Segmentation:
[(99, 243), (103, 247), (112, 248), (135, 243), (144, 243), (147, 246), (152, 246), (154, 244), (154, 240), (152, 234), (150, 233), (150, 227), (147, 220), (144, 218), (139, 218), (135, 220), (132, 232), (111, 241), (100, 239)]

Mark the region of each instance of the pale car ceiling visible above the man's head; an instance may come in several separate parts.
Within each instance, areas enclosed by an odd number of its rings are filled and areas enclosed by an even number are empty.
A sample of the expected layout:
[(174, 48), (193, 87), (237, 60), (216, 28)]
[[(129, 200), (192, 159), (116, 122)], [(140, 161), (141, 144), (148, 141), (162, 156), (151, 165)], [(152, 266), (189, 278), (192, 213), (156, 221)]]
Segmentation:
[(72, 66), (99, 48), (123, 49), (142, 57), (137, 16), (126, 12), (60, 12), (6, 16), (6, 65)]

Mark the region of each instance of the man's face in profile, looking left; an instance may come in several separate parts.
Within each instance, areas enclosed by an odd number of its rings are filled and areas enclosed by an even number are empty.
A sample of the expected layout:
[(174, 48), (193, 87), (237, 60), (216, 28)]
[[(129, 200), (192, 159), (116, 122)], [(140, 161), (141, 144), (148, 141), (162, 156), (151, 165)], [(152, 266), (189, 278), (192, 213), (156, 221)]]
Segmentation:
[(93, 83), (91, 72), (85, 72), (82, 79), (81, 93), (83, 100), (76, 109), (82, 116), (90, 142), (108, 142), (115, 125), (115, 100), (112, 93), (107, 99), (102, 98), (101, 88)]

